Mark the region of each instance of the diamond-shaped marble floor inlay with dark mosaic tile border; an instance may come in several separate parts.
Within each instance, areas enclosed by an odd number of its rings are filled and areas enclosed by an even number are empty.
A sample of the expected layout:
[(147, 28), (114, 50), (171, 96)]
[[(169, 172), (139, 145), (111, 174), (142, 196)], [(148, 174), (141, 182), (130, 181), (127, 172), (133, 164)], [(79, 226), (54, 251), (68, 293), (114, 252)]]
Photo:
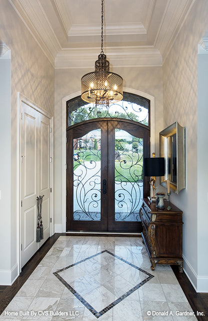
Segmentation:
[(53, 274), (96, 318), (153, 277), (108, 250), (61, 268)]

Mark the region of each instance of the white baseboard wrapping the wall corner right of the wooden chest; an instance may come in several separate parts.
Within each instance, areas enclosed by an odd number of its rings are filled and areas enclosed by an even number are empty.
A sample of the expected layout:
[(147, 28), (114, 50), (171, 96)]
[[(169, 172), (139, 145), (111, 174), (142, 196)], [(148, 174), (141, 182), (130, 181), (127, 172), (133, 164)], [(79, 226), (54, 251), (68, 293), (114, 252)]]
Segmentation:
[(188, 260), (183, 256), (183, 269), (196, 292), (208, 293), (208, 276), (195, 273)]

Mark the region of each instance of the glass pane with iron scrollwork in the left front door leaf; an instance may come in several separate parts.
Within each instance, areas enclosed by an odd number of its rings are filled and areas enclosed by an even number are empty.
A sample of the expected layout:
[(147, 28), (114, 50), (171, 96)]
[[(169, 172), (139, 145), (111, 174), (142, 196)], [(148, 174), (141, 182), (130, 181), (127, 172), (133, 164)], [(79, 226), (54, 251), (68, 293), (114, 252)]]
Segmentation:
[(100, 221), (101, 130), (73, 139), (73, 220)]

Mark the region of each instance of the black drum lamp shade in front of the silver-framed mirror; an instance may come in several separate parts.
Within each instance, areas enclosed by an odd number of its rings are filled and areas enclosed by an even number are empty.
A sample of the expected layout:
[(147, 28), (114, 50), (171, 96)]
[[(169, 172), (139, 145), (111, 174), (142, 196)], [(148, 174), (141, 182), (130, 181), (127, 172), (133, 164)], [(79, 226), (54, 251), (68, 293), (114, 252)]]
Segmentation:
[(164, 157), (144, 158), (143, 176), (164, 176)]

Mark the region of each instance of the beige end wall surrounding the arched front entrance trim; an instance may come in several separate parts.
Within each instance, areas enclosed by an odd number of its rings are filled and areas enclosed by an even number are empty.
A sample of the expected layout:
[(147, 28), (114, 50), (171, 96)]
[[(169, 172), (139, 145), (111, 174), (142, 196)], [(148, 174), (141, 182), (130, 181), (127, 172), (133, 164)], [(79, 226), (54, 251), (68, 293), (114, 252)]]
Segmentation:
[[(95, 57), (96, 60), (96, 57)], [(55, 118), (54, 118), (54, 223), (61, 224), (61, 99), (80, 90), (80, 79), (91, 69), (55, 70)], [(155, 98), (155, 132), (158, 155), (158, 132), (163, 129), (162, 120), (162, 68), (114, 68), (111, 71), (123, 78), (123, 86), (145, 92)]]

